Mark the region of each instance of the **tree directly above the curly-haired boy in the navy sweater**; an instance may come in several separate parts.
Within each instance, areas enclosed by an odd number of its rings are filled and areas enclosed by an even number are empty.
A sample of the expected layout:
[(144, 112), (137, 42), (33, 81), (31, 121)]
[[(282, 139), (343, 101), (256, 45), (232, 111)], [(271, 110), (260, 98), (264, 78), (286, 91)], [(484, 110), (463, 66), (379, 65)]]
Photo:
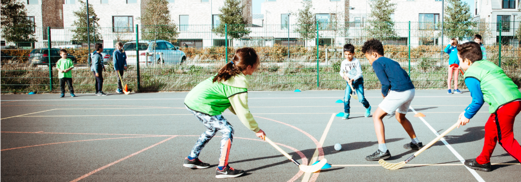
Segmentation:
[(394, 30), (394, 22), (391, 14), (396, 9), (396, 3), (390, 3), (388, 0), (375, 0), (370, 3), (371, 13), (369, 14), (369, 36), (373, 36), (380, 40), (395, 40), (398, 34)]

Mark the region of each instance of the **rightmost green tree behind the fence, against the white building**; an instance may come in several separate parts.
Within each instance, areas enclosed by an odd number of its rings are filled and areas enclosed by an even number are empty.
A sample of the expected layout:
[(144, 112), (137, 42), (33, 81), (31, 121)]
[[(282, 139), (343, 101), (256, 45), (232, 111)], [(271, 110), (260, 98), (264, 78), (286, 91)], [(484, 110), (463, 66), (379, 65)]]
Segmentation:
[(463, 37), (474, 36), (475, 32), (471, 28), (477, 23), (472, 21), (470, 6), (460, 0), (447, 1), (449, 3), (445, 7), (444, 34), (448, 37), (458, 37), (460, 40)]

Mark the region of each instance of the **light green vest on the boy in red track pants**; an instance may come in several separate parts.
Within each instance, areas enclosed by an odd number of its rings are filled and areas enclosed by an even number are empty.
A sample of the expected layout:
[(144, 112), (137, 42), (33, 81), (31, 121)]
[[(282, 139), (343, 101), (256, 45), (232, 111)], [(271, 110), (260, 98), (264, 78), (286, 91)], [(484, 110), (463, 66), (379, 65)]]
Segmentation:
[(476, 61), (465, 71), (465, 79), (473, 77), (479, 81), (483, 100), (488, 102), (489, 113), (494, 113), (499, 107), (511, 101), (521, 99), (521, 93), (510, 77), (494, 63)]

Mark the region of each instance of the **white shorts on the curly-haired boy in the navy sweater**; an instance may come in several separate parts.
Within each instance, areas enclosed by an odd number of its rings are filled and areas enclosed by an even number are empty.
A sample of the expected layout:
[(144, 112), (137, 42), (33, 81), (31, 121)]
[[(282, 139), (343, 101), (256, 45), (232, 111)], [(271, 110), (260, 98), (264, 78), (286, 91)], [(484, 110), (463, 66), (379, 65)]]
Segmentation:
[(389, 94), (387, 94), (387, 97), (383, 99), (378, 107), (388, 114), (392, 114), (394, 111), (407, 114), (413, 98), (414, 88), (405, 90), (403, 92), (390, 90)]

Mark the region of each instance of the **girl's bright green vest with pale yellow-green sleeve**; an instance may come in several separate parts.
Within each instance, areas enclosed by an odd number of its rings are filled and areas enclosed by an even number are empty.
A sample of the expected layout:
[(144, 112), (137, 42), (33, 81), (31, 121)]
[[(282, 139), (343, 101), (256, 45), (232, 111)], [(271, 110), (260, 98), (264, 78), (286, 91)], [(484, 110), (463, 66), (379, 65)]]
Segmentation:
[(235, 75), (224, 82), (212, 82), (214, 77), (209, 77), (190, 90), (184, 98), (184, 105), (211, 116), (229, 109), (239, 117), (242, 124), (257, 133), (260, 128), (248, 108), (249, 83), (244, 74)]

